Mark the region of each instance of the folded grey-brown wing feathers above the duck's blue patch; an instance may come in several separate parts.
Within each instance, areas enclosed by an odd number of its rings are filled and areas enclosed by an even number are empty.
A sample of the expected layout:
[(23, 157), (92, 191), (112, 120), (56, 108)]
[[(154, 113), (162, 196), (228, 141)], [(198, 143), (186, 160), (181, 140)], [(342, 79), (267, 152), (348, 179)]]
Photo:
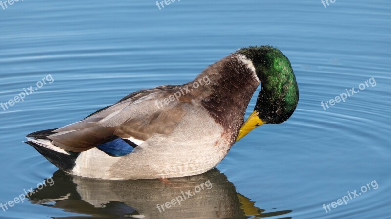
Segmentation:
[(156, 103), (177, 89), (169, 85), (132, 93), (79, 122), (54, 130), (48, 138), (62, 149), (82, 152), (117, 137), (143, 142), (156, 134), (169, 135), (186, 114), (185, 105), (190, 103)]

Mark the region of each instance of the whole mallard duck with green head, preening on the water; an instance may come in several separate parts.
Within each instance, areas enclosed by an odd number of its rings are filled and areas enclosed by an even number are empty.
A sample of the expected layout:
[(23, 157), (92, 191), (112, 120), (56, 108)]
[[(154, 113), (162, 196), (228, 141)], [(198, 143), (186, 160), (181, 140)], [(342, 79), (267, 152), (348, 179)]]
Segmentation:
[[(260, 83), (254, 112), (244, 122)], [(254, 128), (286, 121), (298, 100), (288, 58), (275, 47), (248, 47), (189, 83), (131, 93), (79, 122), (31, 133), (26, 143), (73, 175), (191, 176), (214, 168)]]

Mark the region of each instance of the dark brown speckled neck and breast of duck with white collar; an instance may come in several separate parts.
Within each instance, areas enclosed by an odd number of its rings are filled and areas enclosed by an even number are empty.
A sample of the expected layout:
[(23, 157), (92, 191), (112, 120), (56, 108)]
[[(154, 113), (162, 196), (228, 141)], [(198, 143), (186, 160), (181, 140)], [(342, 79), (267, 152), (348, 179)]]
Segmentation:
[(197, 89), (202, 95), (202, 105), (225, 129), (225, 134), (229, 135), (225, 137), (234, 140), (260, 84), (258, 77), (244, 56), (234, 54), (206, 68), (192, 83), (205, 78), (210, 83)]

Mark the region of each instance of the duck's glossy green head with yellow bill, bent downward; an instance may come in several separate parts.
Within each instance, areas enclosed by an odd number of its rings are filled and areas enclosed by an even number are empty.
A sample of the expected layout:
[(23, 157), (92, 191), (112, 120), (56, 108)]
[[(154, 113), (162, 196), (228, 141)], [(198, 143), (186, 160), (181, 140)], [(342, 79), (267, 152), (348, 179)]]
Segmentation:
[(279, 124), (293, 114), (299, 101), (299, 88), (288, 58), (271, 46), (240, 49), (255, 68), (261, 82), (254, 112), (239, 130), (237, 141), (262, 124)]

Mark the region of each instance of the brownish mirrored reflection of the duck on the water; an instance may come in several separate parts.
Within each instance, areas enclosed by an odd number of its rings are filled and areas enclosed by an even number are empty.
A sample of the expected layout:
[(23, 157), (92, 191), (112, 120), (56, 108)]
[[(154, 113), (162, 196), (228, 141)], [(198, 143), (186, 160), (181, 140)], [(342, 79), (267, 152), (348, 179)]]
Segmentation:
[(96, 180), (61, 170), (52, 179), (53, 186), (32, 194), (29, 201), (81, 215), (63, 218), (245, 219), (291, 212), (263, 213), (264, 210), (254, 206), (255, 202), (237, 193), (234, 184), (217, 169), (168, 181)]

